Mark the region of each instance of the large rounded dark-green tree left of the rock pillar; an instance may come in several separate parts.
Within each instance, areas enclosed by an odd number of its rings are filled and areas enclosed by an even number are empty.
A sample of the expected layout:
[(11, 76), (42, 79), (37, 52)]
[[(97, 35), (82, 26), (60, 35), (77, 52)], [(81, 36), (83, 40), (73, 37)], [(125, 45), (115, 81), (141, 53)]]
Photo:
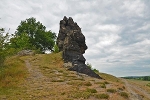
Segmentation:
[[(55, 33), (46, 31), (46, 27), (31, 17), (21, 21), (15, 32), (15, 37), (11, 40), (15, 48), (21, 49), (40, 49), (41, 52), (46, 50), (53, 51), (55, 44)], [(23, 44), (23, 45), (22, 45)]]

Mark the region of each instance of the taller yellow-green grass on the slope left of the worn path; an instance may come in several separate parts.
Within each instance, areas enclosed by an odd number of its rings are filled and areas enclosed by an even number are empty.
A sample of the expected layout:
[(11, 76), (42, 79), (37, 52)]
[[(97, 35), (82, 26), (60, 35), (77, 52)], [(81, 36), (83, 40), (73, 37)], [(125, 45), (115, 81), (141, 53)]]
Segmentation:
[(7, 58), (5, 66), (0, 67), (0, 99), (9, 98), (24, 89), (20, 85), (28, 76), (24, 61), (14, 56)]

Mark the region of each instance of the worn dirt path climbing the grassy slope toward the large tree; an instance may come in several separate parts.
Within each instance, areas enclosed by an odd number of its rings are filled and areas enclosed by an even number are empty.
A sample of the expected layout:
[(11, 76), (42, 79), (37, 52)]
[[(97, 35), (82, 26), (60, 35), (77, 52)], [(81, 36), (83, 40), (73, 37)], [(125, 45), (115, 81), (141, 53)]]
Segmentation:
[(24, 83), (26, 88), (25, 95), (26, 99), (29, 100), (40, 100), (41, 98), (47, 98), (49, 91), (51, 91), (51, 81), (44, 76), (38, 66), (33, 66), (29, 62), (30, 60), (25, 60), (26, 67), (29, 72), (29, 77)]

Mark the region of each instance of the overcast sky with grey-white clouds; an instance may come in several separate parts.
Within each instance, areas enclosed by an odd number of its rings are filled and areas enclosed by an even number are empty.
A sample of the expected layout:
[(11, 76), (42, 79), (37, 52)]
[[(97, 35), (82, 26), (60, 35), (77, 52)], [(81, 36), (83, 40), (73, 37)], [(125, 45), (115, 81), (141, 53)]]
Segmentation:
[(72, 17), (86, 37), (87, 62), (115, 76), (150, 75), (150, 0), (1, 0), (0, 27), (14, 33), (35, 17), (59, 32)]

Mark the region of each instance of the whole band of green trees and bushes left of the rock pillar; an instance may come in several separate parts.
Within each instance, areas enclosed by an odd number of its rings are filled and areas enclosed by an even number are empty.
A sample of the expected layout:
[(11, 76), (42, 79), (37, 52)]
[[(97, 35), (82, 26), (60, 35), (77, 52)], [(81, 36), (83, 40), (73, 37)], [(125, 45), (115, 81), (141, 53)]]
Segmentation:
[(38, 53), (45, 51), (59, 52), (55, 44), (56, 34), (35, 18), (31, 17), (21, 21), (15, 33), (10, 34), (0, 28), (0, 67), (7, 56), (16, 54), (21, 50), (34, 50)]

